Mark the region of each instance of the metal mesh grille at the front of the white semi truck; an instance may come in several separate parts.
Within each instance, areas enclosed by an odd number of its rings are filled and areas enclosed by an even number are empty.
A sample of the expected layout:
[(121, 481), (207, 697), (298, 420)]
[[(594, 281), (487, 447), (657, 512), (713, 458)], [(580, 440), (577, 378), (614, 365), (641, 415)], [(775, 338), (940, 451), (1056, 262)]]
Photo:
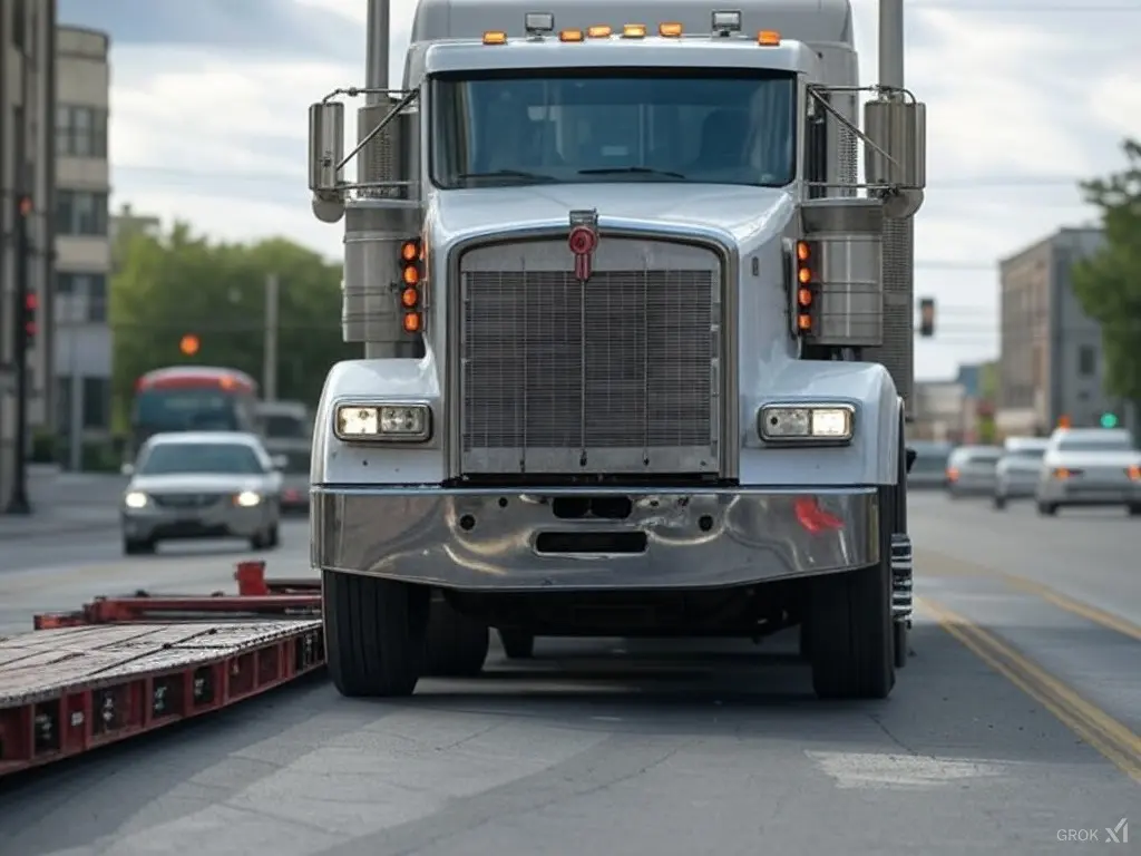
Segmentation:
[(594, 263), (583, 285), (565, 241), (464, 257), (466, 474), (717, 471), (717, 257), (604, 236)]

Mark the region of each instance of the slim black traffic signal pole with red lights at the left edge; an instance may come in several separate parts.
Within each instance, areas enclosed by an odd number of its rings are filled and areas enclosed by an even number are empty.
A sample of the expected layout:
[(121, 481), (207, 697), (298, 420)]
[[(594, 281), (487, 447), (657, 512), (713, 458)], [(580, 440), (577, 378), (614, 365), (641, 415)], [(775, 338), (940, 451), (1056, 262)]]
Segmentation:
[(34, 204), (32, 202), (31, 188), (27, 175), (27, 129), (30, 122), (31, 99), (29, 98), (31, 87), (27, 81), (29, 63), (27, 53), (21, 54), (22, 67), (22, 96), (19, 110), (16, 112), (15, 146), (13, 147), (13, 163), (15, 164), (16, 193), (13, 195), (15, 202), (15, 215), (13, 227), (15, 232), (16, 258), (16, 310), (13, 313), (13, 369), (16, 372), (16, 436), (13, 443), (13, 479), (11, 493), (8, 496), (8, 504), (5, 514), (30, 515), (32, 503), (27, 499), (27, 398), (31, 390), (27, 388), (27, 349), (31, 344), (30, 331), (27, 329), (29, 297), (32, 294), (30, 288), (31, 255), (32, 248), (29, 241), (27, 221), (31, 219)]

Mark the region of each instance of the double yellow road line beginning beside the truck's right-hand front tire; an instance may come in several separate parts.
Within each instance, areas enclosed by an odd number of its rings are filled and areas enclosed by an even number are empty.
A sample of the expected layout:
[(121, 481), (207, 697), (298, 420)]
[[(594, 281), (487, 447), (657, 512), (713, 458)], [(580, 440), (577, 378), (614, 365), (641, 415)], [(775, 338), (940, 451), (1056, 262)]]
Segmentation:
[(930, 598), (916, 598), (916, 605), (982, 662), (1141, 784), (1141, 736), (978, 624)]

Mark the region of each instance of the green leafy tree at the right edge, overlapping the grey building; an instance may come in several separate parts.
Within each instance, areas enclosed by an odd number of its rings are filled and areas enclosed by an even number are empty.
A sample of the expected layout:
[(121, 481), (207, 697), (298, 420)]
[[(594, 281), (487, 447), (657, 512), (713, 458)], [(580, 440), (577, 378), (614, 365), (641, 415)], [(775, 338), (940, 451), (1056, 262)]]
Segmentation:
[(1126, 165), (1082, 184), (1101, 211), (1106, 245), (1074, 269), (1074, 293), (1101, 323), (1106, 391), (1141, 402), (1141, 144), (1122, 145)]

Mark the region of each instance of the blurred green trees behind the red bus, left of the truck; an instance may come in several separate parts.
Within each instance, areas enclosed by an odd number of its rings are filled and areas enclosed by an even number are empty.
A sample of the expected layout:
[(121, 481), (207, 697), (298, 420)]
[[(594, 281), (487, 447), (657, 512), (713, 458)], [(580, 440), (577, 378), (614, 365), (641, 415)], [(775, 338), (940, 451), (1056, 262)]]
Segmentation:
[[(126, 233), (115, 248), (111, 286), (116, 425), (123, 425), (135, 381), (178, 364), (241, 369), (261, 381), (266, 280), (277, 274), (280, 398), (315, 403), (325, 373), (359, 356), (341, 341), (341, 268), (282, 239), (211, 243), (176, 224), (164, 235)], [(193, 357), (179, 350), (199, 337)]]

